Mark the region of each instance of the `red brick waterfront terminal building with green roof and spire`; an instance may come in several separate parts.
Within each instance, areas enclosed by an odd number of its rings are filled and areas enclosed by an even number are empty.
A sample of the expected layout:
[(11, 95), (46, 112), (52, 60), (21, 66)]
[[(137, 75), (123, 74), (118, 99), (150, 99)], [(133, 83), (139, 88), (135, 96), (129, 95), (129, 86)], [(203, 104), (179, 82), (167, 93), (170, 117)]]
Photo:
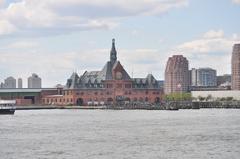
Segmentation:
[(101, 71), (73, 73), (67, 80), (62, 95), (45, 96), (44, 104), (56, 105), (105, 105), (118, 102), (161, 101), (163, 89), (153, 75), (131, 78), (117, 60), (115, 40), (112, 40), (110, 61)]

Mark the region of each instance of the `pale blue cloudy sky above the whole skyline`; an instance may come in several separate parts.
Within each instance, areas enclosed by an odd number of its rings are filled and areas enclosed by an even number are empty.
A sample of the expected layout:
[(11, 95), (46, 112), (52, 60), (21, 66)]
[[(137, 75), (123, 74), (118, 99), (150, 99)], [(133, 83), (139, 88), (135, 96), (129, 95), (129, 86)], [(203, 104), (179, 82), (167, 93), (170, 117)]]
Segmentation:
[(0, 82), (37, 73), (43, 87), (101, 70), (112, 38), (132, 77), (164, 79), (168, 57), (231, 73), (240, 0), (0, 0)]

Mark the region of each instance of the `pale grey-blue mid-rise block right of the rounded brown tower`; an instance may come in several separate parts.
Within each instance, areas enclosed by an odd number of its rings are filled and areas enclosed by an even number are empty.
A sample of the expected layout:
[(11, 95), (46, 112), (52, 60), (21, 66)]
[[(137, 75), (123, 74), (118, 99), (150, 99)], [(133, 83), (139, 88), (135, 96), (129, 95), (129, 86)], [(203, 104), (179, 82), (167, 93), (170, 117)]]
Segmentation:
[(191, 71), (192, 86), (217, 86), (217, 71), (211, 68), (193, 68)]

